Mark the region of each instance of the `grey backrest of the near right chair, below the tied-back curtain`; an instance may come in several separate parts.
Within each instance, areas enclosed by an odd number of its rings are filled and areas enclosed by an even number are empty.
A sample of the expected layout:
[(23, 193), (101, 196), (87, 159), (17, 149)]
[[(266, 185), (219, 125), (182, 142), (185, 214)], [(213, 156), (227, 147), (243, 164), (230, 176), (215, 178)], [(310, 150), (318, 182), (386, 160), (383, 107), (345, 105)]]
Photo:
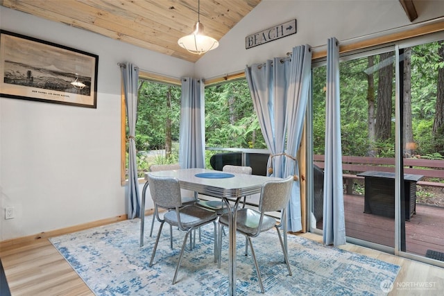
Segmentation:
[(293, 181), (293, 176), (289, 176), (283, 180), (267, 181), (262, 184), (259, 211), (264, 213), (285, 210), (290, 200)]

